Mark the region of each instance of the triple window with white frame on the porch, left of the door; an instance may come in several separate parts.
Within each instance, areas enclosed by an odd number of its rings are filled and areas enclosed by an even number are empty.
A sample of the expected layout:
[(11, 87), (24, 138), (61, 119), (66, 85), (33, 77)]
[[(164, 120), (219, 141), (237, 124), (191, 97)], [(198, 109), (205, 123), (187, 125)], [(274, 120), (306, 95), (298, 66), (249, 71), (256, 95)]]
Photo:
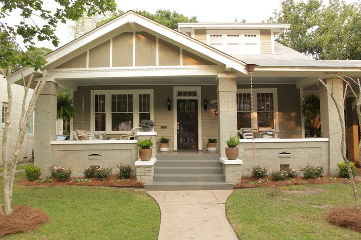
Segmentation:
[(153, 90), (94, 90), (91, 129), (126, 133), (140, 120), (153, 120)]

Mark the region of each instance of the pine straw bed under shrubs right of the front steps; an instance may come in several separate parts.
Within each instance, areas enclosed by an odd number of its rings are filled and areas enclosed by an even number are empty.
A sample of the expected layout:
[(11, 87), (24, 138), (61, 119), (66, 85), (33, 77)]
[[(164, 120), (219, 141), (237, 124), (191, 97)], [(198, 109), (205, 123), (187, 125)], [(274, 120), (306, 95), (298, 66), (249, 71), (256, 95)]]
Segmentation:
[[(268, 180), (267, 180), (268, 179)], [(360, 181), (355, 181), (360, 182)], [(323, 177), (318, 179), (304, 179), (302, 177), (288, 178), (284, 181), (272, 181), (271, 177), (265, 177), (262, 180), (253, 177), (242, 177), (241, 183), (236, 184), (235, 188), (258, 188), (258, 187), (283, 187), (292, 185), (306, 184), (327, 184), (327, 183), (350, 183), (349, 179), (339, 177)]]

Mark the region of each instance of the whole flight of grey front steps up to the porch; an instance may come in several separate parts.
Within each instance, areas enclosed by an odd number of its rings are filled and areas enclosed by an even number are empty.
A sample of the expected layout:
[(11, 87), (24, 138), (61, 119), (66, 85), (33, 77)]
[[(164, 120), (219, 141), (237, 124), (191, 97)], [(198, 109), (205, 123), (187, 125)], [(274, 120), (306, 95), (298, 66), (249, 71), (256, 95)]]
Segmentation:
[(233, 189), (224, 182), (218, 154), (157, 154), (153, 184), (146, 190), (221, 190)]

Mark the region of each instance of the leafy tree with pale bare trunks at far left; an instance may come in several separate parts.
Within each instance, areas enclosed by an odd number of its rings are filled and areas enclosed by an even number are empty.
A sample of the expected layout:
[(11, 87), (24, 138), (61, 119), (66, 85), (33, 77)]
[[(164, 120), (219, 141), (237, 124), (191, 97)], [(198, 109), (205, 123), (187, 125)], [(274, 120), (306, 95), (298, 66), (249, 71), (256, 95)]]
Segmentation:
[[(46, 70), (43, 70), (43, 77), (36, 82), (30, 103), (26, 104), (28, 92), (33, 81), (31, 74), (28, 80), (22, 76), (24, 85), (23, 108), (19, 122), (19, 135), (16, 140), (15, 149), (10, 149), (8, 144), (8, 129), (14, 125), (11, 120), (12, 115), (12, 92), (11, 92), (11, 66), (17, 64), (29, 66), (34, 70), (41, 70), (46, 64), (45, 58), (38, 56), (30, 58), (27, 55), (29, 50), (34, 49), (34, 39), (38, 41), (50, 40), (57, 47), (58, 38), (55, 35), (56, 25), (66, 23), (68, 20), (76, 21), (84, 13), (89, 16), (99, 12), (115, 11), (116, 4), (114, 0), (53, 0), (47, 1), (47, 4), (56, 4), (54, 12), (47, 9), (47, 5), (42, 0), (0, 0), (0, 46), (8, 48), (1, 49), (1, 67), (7, 66), (7, 71), (1, 69), (1, 74), (7, 81), (8, 108), (6, 110), (7, 120), (5, 122), (2, 136), (2, 164), (3, 172), (3, 192), (4, 203), (0, 205), (0, 215), (9, 215), (12, 213), (11, 200), (14, 183), (15, 168), (18, 161), (18, 151), (23, 144), (25, 133), (28, 129), (30, 115), (32, 114), (37, 97), (45, 85)], [(6, 17), (12, 12), (20, 12), (19, 22), (14, 24), (6, 23)], [(44, 24), (35, 24), (33, 18), (40, 18)], [(21, 43), (18, 42), (21, 39)], [(19, 59), (19, 51), (22, 55)], [(29, 54), (30, 55), (30, 54)], [(15, 126), (14, 126), (15, 127)]]

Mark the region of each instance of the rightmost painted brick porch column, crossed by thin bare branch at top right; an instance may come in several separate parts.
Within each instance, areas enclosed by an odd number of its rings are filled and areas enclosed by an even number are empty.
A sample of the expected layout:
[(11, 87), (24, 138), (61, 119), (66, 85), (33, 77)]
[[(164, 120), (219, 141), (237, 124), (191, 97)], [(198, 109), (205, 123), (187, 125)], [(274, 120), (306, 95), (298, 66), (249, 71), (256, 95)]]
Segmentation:
[[(333, 89), (334, 96), (340, 103), (343, 113), (343, 84), (339, 78), (325, 78), (323, 81)], [(323, 163), (325, 173), (337, 174), (337, 163), (342, 162), (341, 157), (341, 124), (338, 118), (336, 106), (328, 94), (326, 88), (320, 84), (319, 87), (321, 106), (321, 132), (322, 137), (329, 138), (329, 162)]]

